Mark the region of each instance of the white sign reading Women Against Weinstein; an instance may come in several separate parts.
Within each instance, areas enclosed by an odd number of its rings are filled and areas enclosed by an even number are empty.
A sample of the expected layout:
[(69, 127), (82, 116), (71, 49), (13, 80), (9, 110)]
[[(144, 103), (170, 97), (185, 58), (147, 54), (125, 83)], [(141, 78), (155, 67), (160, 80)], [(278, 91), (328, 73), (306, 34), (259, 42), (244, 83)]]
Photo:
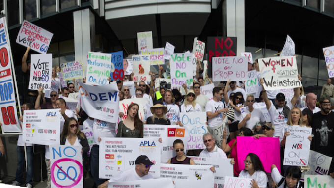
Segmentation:
[(259, 59), (259, 68), (265, 90), (301, 87), (295, 56)]

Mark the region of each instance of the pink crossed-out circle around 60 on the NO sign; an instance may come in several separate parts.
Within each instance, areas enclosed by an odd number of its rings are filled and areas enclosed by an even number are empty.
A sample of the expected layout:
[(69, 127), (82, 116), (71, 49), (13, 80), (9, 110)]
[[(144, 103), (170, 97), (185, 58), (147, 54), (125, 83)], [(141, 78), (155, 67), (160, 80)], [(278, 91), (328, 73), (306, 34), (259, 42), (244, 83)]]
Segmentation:
[[(73, 164), (76, 164), (77, 166), (69, 166), (67, 168), (67, 170), (63, 170), (62, 169), (62, 166), (61, 165), (58, 165), (60, 162), (73, 162)], [(70, 179), (73, 181), (72, 184), (70, 185), (60, 185), (60, 183), (57, 183), (56, 182), (56, 179), (55, 179), (55, 176), (56, 174), (54, 173), (55, 171), (55, 168), (58, 168), (58, 176), (57, 176), (57, 181), (62, 181), (62, 180), (65, 180), (66, 178)], [(73, 177), (71, 177), (69, 175), (69, 171), (70, 169), (73, 169), (74, 172), (75, 172), (75, 175)], [(79, 175), (77, 174), (77, 169), (79, 170)], [(63, 174), (65, 177), (63, 179), (60, 179), (59, 178), (59, 173)], [(75, 180), (75, 178), (77, 178), (77, 180)], [(81, 162), (77, 161), (77, 160), (74, 160), (74, 159), (70, 159), (70, 158), (63, 158), (63, 159), (59, 159), (55, 162), (53, 162), (52, 166), (51, 166), (51, 181), (53, 182), (53, 184), (57, 187), (57, 188), (72, 188), (73, 186), (77, 185), (80, 180), (82, 179), (83, 177), (83, 165), (81, 164)]]

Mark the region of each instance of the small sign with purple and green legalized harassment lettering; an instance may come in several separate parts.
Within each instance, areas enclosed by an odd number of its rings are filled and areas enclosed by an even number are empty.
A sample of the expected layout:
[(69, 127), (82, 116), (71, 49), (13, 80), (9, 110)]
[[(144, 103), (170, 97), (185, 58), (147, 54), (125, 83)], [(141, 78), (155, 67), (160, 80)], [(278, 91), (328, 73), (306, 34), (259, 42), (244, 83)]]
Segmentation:
[(63, 81), (70, 81), (72, 79), (82, 79), (83, 72), (83, 63), (81, 61), (73, 61), (63, 63), (59, 75), (62, 76)]

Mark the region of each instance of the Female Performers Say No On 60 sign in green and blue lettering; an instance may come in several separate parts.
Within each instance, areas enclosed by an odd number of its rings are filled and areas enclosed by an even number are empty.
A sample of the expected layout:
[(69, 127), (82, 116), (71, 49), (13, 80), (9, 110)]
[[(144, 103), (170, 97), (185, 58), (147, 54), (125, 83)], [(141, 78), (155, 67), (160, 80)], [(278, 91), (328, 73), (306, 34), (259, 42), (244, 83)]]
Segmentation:
[(111, 54), (89, 52), (87, 60), (87, 79), (89, 85), (106, 85), (110, 72), (115, 69), (111, 64)]

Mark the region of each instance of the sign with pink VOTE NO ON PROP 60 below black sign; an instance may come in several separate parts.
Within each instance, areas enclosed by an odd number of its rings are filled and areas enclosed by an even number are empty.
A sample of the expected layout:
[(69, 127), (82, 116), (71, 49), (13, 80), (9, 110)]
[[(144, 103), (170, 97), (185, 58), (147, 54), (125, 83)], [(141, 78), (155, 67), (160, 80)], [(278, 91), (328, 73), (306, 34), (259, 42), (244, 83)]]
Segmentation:
[(212, 81), (245, 81), (247, 69), (247, 57), (213, 57)]

